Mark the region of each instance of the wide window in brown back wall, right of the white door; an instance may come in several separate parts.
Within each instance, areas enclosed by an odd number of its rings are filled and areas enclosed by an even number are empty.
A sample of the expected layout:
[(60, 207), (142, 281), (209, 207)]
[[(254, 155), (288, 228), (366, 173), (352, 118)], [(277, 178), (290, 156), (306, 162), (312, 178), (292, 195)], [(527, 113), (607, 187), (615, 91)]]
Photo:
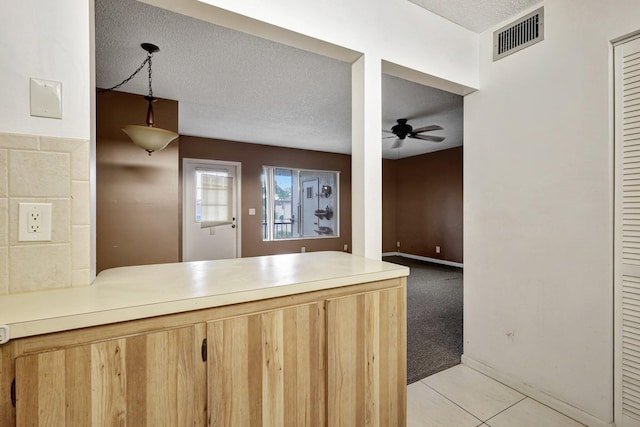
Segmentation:
[(338, 237), (340, 172), (262, 168), (262, 239)]

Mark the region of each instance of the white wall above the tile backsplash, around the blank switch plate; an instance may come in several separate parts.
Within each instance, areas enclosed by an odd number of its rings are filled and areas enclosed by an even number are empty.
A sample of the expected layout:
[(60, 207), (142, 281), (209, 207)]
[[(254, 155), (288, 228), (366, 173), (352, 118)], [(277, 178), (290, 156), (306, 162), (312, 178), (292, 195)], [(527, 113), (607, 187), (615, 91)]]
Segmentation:
[[(90, 137), (89, 22), (88, 0), (0, 2), (0, 132)], [(62, 120), (29, 115), (30, 77), (62, 82)]]

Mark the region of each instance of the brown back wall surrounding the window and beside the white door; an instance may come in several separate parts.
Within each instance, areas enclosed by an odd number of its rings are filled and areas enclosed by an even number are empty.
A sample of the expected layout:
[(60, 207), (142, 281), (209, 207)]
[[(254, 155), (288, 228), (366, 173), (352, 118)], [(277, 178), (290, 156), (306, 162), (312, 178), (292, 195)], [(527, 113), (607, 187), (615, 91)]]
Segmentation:
[[(180, 136), (180, 163), (183, 158), (235, 161), (242, 163), (242, 256), (300, 252), (351, 250), (351, 156), (298, 150), (259, 144)], [(340, 237), (262, 241), (262, 166), (340, 171)], [(250, 208), (256, 215), (249, 216)]]

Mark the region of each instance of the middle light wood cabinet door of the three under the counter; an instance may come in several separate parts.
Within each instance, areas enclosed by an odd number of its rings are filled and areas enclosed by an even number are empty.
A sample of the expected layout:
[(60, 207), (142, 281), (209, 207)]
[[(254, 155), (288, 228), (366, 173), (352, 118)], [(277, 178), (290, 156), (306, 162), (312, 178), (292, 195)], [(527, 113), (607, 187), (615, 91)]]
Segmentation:
[(207, 342), (210, 425), (324, 425), (320, 304), (211, 322)]

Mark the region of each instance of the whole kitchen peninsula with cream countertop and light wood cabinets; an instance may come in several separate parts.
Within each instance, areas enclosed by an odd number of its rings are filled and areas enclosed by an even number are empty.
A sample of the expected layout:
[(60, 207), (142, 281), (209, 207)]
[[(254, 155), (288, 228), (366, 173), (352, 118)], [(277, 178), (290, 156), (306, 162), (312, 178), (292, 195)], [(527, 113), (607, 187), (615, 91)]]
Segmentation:
[(2, 296), (0, 425), (404, 425), (408, 273), (315, 252)]

